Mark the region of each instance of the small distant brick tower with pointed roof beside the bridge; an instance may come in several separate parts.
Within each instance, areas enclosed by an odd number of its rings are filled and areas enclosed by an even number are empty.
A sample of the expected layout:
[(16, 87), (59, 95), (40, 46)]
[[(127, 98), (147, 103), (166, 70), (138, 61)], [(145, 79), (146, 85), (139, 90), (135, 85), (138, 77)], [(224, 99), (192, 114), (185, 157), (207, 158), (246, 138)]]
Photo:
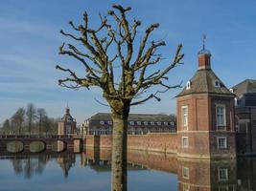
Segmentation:
[(58, 122), (58, 135), (70, 135), (75, 134), (77, 129), (76, 119), (70, 115), (69, 107), (66, 107), (64, 116)]

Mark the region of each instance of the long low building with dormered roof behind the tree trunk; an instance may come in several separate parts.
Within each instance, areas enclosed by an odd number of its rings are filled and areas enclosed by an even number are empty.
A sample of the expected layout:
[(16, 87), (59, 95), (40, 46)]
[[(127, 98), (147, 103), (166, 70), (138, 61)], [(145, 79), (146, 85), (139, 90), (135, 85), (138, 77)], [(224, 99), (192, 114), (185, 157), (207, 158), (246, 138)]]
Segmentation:
[[(109, 113), (98, 113), (83, 123), (84, 134), (110, 135), (112, 119)], [(128, 134), (175, 132), (175, 117), (168, 115), (129, 114)]]

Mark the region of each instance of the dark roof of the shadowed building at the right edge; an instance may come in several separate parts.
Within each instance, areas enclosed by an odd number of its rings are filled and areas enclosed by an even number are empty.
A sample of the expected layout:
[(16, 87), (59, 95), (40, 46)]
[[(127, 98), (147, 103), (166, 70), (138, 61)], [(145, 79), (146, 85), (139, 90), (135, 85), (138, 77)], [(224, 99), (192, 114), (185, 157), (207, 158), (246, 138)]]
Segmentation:
[(245, 79), (241, 83), (235, 85), (232, 89), (236, 96), (256, 93), (256, 79)]

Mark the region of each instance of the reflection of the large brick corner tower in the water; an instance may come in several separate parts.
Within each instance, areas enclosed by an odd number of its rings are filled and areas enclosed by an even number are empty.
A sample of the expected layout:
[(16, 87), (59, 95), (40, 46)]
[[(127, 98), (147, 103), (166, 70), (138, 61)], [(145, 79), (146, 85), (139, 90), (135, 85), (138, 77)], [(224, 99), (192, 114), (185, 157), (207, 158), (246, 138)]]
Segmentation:
[(178, 159), (179, 191), (237, 190), (236, 160)]

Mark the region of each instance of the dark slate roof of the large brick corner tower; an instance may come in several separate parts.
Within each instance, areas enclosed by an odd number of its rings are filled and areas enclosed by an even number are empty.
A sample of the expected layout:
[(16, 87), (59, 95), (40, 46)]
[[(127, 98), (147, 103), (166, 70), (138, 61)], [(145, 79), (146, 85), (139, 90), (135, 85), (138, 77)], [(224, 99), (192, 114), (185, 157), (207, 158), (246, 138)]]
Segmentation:
[[(220, 87), (215, 86), (217, 80), (220, 82)], [(190, 82), (191, 88), (185, 87), (178, 96), (202, 93), (234, 96), (211, 69), (199, 69)]]

